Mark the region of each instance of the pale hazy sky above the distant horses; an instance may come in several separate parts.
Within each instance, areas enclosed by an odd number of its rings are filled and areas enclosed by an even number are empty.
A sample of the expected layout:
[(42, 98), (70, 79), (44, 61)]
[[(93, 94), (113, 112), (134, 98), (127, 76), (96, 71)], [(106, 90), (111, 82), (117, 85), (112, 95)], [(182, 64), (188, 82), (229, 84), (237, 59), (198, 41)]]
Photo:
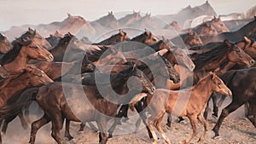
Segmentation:
[[(152, 14), (176, 14), (180, 9), (195, 7), (206, 0), (0, 0), (0, 31), (10, 26), (47, 24), (67, 18), (67, 13), (96, 20), (108, 11), (141, 10)], [(244, 12), (256, 0), (209, 0), (217, 14)]]

